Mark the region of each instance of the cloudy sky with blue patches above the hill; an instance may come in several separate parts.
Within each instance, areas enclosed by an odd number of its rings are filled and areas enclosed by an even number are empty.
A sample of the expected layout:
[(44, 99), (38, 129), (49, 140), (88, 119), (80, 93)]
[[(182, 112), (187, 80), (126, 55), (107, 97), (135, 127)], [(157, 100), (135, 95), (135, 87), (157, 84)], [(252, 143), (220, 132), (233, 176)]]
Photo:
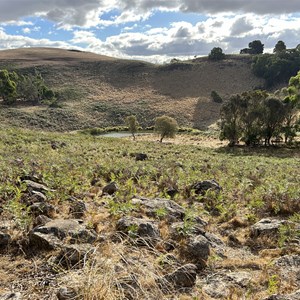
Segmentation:
[(56, 47), (153, 63), (300, 44), (300, 0), (0, 0), (0, 49)]

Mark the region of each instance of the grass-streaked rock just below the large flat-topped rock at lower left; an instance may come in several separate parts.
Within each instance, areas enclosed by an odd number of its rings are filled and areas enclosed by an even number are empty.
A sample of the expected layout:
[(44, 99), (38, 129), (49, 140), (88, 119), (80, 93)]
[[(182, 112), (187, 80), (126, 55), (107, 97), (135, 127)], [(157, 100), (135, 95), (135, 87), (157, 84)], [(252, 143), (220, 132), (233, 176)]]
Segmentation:
[(65, 269), (82, 268), (95, 249), (90, 244), (65, 246), (57, 256), (56, 263)]

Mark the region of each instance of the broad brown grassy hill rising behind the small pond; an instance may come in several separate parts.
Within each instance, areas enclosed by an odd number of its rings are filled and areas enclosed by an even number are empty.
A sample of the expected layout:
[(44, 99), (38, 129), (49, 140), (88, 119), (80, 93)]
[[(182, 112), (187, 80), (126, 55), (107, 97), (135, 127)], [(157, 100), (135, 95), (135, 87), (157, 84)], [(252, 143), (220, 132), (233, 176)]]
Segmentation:
[(168, 114), (180, 125), (207, 127), (218, 119), (220, 104), (211, 91), (229, 97), (262, 86), (250, 70), (251, 57), (231, 55), (154, 65), (77, 50), (25, 48), (0, 51), (0, 68), (19, 73), (37, 69), (63, 95), (62, 107), (2, 107), (2, 124), (48, 130), (122, 125), (136, 114), (143, 126)]

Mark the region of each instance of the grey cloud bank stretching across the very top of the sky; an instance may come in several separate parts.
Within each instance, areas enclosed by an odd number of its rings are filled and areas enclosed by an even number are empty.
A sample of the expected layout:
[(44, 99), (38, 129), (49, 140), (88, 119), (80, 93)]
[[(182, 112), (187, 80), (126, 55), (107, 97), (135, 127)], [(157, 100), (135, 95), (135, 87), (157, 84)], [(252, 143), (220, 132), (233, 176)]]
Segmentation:
[(105, 12), (118, 10), (116, 23), (147, 19), (155, 10), (200, 14), (256, 13), (262, 15), (300, 12), (300, 1), (289, 0), (1, 0), (0, 23), (22, 21), (29, 16), (44, 16), (59, 26), (92, 27), (111, 25), (101, 20)]

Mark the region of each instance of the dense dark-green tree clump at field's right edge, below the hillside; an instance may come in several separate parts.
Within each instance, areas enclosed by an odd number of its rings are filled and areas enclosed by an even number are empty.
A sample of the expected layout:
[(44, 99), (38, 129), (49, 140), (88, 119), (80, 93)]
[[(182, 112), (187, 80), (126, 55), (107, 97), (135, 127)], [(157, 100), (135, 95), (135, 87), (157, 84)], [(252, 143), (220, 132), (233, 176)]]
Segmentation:
[(289, 81), (288, 88), (270, 95), (266, 91), (250, 91), (232, 96), (221, 108), (222, 140), (234, 146), (240, 140), (246, 145), (284, 137), (290, 142), (299, 127), (300, 72)]

